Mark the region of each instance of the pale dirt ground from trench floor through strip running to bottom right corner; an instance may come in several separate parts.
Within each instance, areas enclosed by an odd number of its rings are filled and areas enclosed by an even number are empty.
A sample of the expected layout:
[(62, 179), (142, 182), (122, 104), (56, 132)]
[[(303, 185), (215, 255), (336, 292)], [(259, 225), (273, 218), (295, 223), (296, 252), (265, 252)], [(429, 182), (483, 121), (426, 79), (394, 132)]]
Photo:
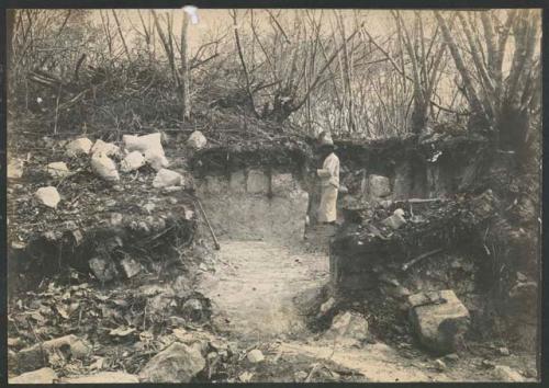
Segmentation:
[(475, 344), (467, 354), (437, 358), (415, 343), (357, 343), (311, 332), (298, 301), (320, 297), (328, 282), (328, 255), (321, 247), (327, 239), (329, 231), (316, 229), (291, 248), (225, 240), (202, 274), (199, 287), (212, 300), (214, 327), (266, 356), (261, 367), (244, 372), (250, 381), (486, 381), (501, 379), (496, 364), (535, 370), (528, 355), (502, 356)]

